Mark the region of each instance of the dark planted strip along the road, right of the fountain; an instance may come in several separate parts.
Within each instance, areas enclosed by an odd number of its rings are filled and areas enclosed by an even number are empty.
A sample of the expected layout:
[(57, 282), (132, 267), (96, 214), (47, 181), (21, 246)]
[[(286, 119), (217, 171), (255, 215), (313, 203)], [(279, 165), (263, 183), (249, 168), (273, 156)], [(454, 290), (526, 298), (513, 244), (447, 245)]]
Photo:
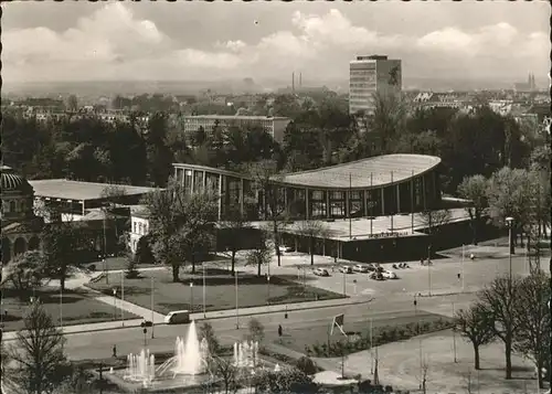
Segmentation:
[[(347, 319), (347, 317), (346, 317)], [(395, 328), (397, 331), (401, 329), (404, 329), (404, 337), (400, 338), (401, 336), (396, 333), (391, 333), (388, 336), (388, 340), (384, 340), (383, 342), (393, 342), (396, 340), (401, 339), (407, 339), (408, 336), (407, 333), (411, 333), (410, 337), (415, 336), (416, 333), (412, 333), (412, 331), (420, 332), (420, 333), (427, 333), (431, 331), (436, 330), (436, 322), (440, 321), (443, 323), (447, 322), (449, 319), (444, 318), (443, 316), (439, 315), (434, 315), (434, 313), (427, 313), (427, 312), (418, 312), (417, 317), (404, 317), (400, 319), (382, 319), (382, 320), (373, 320), (372, 322), (372, 329), (373, 329), (373, 334), (372, 338), (374, 339), (374, 342), (378, 341), (378, 336), (381, 336), (383, 331), (389, 333), (390, 331), (393, 331)], [(420, 322), (420, 326), (416, 324), (416, 321)], [(347, 338), (339, 331), (339, 329), (336, 327), (333, 329), (333, 333), (330, 334), (330, 329), (331, 327), (331, 319), (328, 319), (327, 322), (318, 322), (318, 323), (312, 323), (309, 324), (308, 329), (305, 328), (297, 328), (297, 329), (286, 329), (284, 331), (284, 334), (282, 338), (279, 338), (277, 334), (274, 332), (267, 332), (266, 333), (266, 339), (268, 341), (272, 341), (274, 343), (284, 345), (288, 349), (291, 349), (297, 352), (305, 353), (307, 350), (312, 352), (312, 349), (316, 347), (328, 347), (332, 348), (338, 343), (346, 343)], [(347, 332), (351, 348), (348, 349), (347, 353), (351, 353), (354, 351), (361, 351), (363, 349), (367, 349), (367, 343), (361, 343), (362, 338), (370, 338), (369, 334), (369, 323), (367, 320), (364, 321), (347, 321), (344, 323), (344, 331)], [(420, 331), (417, 331), (420, 330)], [(407, 332), (411, 331), (411, 332)], [(394, 337), (393, 337), (394, 336)], [(385, 339), (385, 336), (384, 336)], [(353, 342), (358, 342), (358, 345), (353, 345)], [(380, 343), (381, 339), (380, 339)], [(369, 348), (369, 345), (368, 345)], [(321, 353), (321, 352), (320, 352)], [(312, 356), (322, 356), (322, 354), (311, 354)]]

